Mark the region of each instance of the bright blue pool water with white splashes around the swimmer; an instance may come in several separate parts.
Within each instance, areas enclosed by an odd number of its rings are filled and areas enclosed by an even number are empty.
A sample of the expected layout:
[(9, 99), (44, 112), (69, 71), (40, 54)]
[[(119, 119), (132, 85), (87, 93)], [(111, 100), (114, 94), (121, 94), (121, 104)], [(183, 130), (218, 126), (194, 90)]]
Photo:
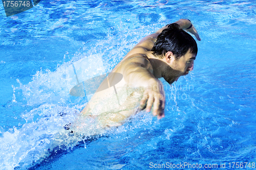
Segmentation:
[[(255, 1), (49, 0), (11, 17), (0, 11), (0, 169), (253, 169)], [(87, 75), (109, 72), (141, 38), (180, 18), (202, 41), (193, 72), (172, 87), (163, 80), (163, 119), (141, 112), (85, 138), (90, 125), (80, 136), (63, 129), (87, 102), (69, 94), (72, 64), (96, 60), (104, 70)]]

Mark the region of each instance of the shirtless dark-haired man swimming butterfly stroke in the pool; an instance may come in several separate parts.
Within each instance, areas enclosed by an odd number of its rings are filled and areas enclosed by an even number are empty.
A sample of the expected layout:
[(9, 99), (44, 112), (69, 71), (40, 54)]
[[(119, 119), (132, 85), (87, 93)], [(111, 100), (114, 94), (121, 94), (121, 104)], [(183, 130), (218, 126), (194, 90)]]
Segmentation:
[[(187, 75), (193, 70), (198, 51), (195, 39), (183, 29), (200, 41), (188, 19), (180, 19), (144, 37), (112, 70), (123, 76), (122, 81), (114, 88), (98, 90), (81, 111), (80, 123), (76, 125), (81, 127), (82, 119), (90, 117), (101, 128), (120, 126), (137, 111), (150, 112), (152, 107), (153, 115), (163, 118), (165, 93), (158, 79), (163, 77), (171, 85), (180, 76)], [(115, 79), (113, 74), (104, 81), (110, 85)], [(114, 100), (118, 100), (118, 104)]]

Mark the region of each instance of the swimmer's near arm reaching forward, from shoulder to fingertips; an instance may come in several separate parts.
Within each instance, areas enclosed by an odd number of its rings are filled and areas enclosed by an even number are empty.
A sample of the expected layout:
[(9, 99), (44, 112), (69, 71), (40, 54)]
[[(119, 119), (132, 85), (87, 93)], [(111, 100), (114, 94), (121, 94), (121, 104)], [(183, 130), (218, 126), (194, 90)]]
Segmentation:
[(153, 75), (153, 68), (143, 56), (132, 56), (123, 61), (121, 66), (123, 78), (130, 87), (144, 87), (143, 98), (140, 101), (140, 109), (146, 104), (146, 111), (153, 107), (153, 115), (158, 119), (164, 117), (165, 93), (163, 84)]

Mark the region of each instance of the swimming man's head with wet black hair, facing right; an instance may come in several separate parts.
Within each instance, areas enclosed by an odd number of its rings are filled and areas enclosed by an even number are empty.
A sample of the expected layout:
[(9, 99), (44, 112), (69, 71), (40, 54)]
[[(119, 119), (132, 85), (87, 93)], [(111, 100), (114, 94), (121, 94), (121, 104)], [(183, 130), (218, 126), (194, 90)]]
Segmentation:
[(158, 35), (151, 51), (169, 65), (164, 68), (162, 76), (172, 84), (180, 76), (185, 76), (188, 71), (193, 70), (198, 48), (191, 35), (177, 23), (172, 23)]

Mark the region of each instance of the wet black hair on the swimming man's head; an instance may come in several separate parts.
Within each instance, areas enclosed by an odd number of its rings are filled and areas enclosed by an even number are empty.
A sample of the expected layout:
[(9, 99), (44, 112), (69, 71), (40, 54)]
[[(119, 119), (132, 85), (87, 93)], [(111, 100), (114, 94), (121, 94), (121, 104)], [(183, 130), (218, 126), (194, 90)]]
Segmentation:
[(161, 58), (167, 52), (173, 52), (176, 59), (185, 55), (187, 51), (197, 55), (197, 42), (187, 32), (182, 30), (177, 23), (167, 25), (167, 28), (158, 35), (152, 52), (154, 55), (159, 55)]

